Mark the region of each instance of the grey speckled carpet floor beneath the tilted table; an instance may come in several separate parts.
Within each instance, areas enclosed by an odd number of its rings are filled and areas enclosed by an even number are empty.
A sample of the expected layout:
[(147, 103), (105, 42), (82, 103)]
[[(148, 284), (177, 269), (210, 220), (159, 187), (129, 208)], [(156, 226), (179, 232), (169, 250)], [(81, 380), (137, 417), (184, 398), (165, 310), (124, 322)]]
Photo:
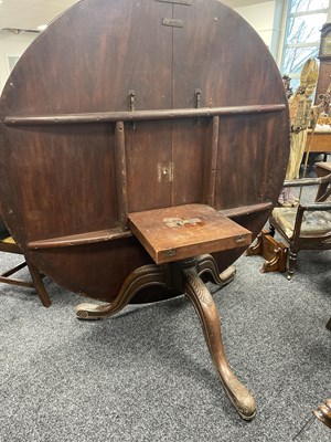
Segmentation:
[[(18, 259), (2, 253), (0, 270)], [(229, 364), (257, 401), (252, 422), (184, 296), (79, 322), (84, 299), (47, 278), (50, 308), (0, 284), (0, 441), (331, 441), (312, 417), (331, 398), (331, 252), (300, 252), (291, 282), (261, 264), (242, 256), (227, 287), (209, 284)]]

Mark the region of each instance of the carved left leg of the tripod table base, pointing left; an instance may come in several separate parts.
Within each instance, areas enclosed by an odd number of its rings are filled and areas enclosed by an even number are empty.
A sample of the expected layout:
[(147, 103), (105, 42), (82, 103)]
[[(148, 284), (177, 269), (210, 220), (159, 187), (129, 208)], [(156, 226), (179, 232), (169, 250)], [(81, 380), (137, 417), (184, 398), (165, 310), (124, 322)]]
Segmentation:
[(76, 316), (79, 319), (100, 319), (102, 317), (114, 315), (124, 308), (140, 290), (150, 285), (166, 287), (166, 266), (142, 265), (126, 278), (113, 303), (102, 305), (78, 304), (75, 308)]

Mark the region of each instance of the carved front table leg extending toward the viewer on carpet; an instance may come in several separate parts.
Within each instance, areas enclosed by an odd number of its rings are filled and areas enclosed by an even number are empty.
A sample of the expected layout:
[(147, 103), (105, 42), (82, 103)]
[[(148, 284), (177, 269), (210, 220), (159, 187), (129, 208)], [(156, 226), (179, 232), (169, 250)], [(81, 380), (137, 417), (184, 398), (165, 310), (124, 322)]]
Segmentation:
[(196, 273), (195, 267), (183, 269), (182, 272), (185, 281), (185, 294), (193, 303), (201, 319), (205, 339), (224, 389), (241, 417), (245, 420), (252, 420), (256, 412), (255, 400), (228, 366), (214, 299)]

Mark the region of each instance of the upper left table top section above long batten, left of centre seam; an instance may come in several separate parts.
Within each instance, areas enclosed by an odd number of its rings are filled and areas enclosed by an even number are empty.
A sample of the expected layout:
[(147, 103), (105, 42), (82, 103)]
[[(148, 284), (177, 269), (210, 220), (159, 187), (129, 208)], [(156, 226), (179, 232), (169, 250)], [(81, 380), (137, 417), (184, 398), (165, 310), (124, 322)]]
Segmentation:
[(131, 90), (137, 109), (170, 107), (172, 30), (160, 23), (171, 10), (150, 0), (78, 2), (22, 55), (2, 114), (128, 110)]

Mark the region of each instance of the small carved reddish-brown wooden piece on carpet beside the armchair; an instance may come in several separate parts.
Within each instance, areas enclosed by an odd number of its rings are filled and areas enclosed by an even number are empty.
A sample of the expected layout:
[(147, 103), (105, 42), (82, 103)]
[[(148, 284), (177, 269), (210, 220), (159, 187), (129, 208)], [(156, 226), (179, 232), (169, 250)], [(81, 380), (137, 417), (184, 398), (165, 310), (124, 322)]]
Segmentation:
[(256, 239), (256, 243), (246, 251), (246, 256), (260, 255), (266, 262), (261, 272), (286, 272), (288, 248), (276, 241), (267, 231), (263, 230)]

